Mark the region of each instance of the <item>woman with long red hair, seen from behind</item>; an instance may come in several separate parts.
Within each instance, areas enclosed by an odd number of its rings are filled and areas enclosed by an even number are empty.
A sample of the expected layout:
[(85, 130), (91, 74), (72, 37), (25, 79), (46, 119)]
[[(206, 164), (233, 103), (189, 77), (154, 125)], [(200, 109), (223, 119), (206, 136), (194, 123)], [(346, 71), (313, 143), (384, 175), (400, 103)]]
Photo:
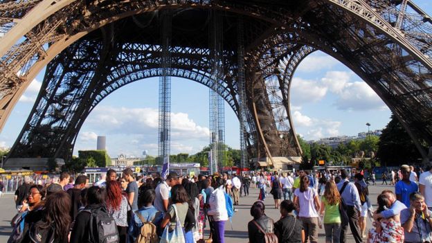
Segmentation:
[(127, 240), (127, 211), (131, 209), (120, 182), (107, 181), (107, 209), (109, 215), (114, 218), (120, 235), (120, 243), (126, 243)]

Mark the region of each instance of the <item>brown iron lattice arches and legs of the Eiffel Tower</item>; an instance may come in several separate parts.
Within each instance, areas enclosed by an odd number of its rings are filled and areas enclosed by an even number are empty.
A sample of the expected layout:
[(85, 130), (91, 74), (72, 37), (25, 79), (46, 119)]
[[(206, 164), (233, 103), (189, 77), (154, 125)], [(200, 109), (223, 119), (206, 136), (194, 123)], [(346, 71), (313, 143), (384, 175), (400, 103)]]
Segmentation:
[[(386, 102), (426, 158), (432, 19), (412, 0), (0, 1), (0, 128), (46, 66), (10, 158), (69, 159), (100, 100), (130, 82), (164, 76), (163, 10), (172, 11), (170, 76), (218, 87), (243, 121), (249, 156), (300, 155), (289, 87), (301, 60), (319, 50)], [(224, 16), (220, 78), (213, 77), (211, 12)]]

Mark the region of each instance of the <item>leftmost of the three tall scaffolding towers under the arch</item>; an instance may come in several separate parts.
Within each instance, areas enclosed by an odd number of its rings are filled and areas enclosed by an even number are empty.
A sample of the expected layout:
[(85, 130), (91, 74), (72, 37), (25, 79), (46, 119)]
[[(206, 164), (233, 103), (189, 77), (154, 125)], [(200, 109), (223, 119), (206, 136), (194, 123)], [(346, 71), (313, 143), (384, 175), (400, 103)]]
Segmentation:
[(159, 77), (159, 159), (162, 161), (162, 177), (170, 172), (170, 120), (171, 120), (171, 10), (161, 11), (161, 68)]

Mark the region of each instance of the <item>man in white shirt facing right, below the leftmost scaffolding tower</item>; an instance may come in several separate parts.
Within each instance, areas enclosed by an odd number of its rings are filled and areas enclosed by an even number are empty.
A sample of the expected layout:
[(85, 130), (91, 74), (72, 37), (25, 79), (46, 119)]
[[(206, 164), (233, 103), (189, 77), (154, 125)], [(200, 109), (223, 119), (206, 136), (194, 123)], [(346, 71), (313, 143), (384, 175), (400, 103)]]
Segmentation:
[(179, 183), (179, 176), (176, 172), (170, 172), (165, 181), (162, 181), (156, 186), (156, 199), (154, 199), (154, 207), (162, 213), (168, 210), (168, 199), (170, 198), (170, 187)]

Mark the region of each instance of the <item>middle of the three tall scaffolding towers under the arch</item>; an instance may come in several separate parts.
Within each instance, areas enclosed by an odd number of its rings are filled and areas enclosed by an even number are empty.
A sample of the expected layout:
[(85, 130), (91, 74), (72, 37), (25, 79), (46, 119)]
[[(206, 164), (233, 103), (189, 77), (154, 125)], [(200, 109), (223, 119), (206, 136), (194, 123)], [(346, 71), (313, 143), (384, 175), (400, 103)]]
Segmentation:
[(224, 79), (224, 57), (222, 53), (222, 19), (216, 10), (210, 10), (210, 60), (212, 62), (211, 81), (209, 91), (210, 118), (210, 173), (218, 172), (219, 166), (224, 164), (225, 153), (225, 110), (224, 99), (218, 91), (222, 89), (221, 80)]

